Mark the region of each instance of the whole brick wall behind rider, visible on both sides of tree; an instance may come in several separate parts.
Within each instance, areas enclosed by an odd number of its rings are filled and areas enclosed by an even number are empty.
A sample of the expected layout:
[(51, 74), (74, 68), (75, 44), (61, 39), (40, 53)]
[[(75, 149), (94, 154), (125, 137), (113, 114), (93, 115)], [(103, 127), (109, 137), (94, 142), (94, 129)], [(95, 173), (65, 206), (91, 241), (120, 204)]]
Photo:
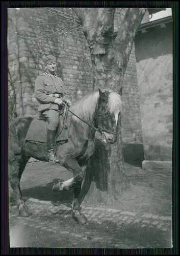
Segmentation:
[[(120, 25), (126, 8), (118, 8), (115, 13), (114, 29)], [(11, 74), (17, 83), (15, 52), (15, 14), (8, 9), (8, 57)], [(45, 9), (20, 9), (17, 11), (21, 86), (25, 114), (35, 114), (38, 106), (33, 98), (34, 80), (42, 72), (42, 54), (53, 53), (59, 63), (58, 74), (63, 78), (67, 93), (72, 101), (85, 95), (92, 88), (92, 68), (87, 41), (81, 29), (74, 28), (70, 9), (63, 9), (66, 16), (48, 13)], [(47, 15), (49, 14), (49, 15)], [(147, 17), (146, 17), (147, 18)], [(28, 20), (28, 22), (26, 21)], [(61, 30), (69, 25), (68, 28)], [(48, 25), (47, 25), (48, 24)], [(79, 26), (79, 25), (77, 25)], [(61, 30), (57, 34), (55, 31)], [(47, 34), (53, 34), (46, 37)], [(45, 36), (45, 37), (44, 37)], [(124, 143), (142, 143), (142, 130), (137, 94), (135, 48), (124, 77), (122, 138)], [(18, 96), (18, 93), (17, 93)]]

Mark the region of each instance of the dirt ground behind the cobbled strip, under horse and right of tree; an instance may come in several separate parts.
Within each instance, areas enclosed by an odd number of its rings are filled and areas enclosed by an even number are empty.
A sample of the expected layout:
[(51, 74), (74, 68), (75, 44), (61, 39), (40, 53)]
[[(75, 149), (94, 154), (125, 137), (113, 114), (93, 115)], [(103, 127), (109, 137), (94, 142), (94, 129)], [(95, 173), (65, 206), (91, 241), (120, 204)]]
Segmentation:
[[(150, 172), (145, 172), (140, 167), (126, 163), (125, 170), (132, 182), (130, 188), (125, 191), (115, 205), (99, 205), (99, 207), (171, 216), (171, 174), (162, 177), (157, 170), (157, 174), (153, 175)], [(71, 177), (72, 174), (58, 164), (46, 162), (28, 163), (20, 182), (22, 194), (25, 197), (49, 200), (50, 190), (47, 189), (46, 191), (43, 187), (49, 187), (54, 179), (66, 180)], [(10, 189), (10, 193), (11, 191)], [(48, 195), (46, 195), (47, 193)]]

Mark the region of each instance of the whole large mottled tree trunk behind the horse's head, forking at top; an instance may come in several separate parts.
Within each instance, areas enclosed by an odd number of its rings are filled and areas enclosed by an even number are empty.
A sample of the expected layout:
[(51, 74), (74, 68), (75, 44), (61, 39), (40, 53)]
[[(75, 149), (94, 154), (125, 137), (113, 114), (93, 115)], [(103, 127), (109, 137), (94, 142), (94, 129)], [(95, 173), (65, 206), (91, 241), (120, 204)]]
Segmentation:
[[(113, 37), (115, 8), (76, 9), (89, 43), (94, 71), (94, 90), (108, 88), (120, 93), (136, 31), (145, 14), (144, 8), (127, 8), (116, 37)], [(124, 172), (121, 116), (118, 139), (109, 150), (98, 143), (85, 173), (80, 201), (91, 205), (114, 204), (130, 186)]]

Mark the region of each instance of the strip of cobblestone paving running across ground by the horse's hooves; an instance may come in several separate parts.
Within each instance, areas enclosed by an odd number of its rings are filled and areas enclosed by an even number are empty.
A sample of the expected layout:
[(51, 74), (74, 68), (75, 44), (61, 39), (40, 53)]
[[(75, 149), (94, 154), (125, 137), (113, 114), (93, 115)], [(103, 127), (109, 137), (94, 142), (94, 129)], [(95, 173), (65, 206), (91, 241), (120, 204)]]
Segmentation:
[[(34, 215), (62, 215), (67, 218), (71, 215), (71, 209), (66, 205), (54, 205), (49, 201), (41, 201), (30, 198), (27, 200), (27, 205)], [(15, 207), (13, 207), (15, 208)], [(138, 214), (130, 211), (119, 211), (116, 209), (105, 209), (100, 207), (83, 207), (82, 212), (89, 221), (101, 224), (105, 221), (112, 221), (118, 226), (122, 223), (139, 223), (141, 227), (156, 227), (162, 231), (171, 229), (170, 216), (158, 216), (153, 214)]]

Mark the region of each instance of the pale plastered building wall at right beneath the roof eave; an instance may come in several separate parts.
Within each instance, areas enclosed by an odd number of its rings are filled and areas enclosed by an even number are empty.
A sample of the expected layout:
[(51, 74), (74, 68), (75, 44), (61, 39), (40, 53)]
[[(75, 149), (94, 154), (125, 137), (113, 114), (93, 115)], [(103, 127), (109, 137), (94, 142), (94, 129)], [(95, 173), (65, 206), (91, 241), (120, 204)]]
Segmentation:
[(135, 40), (145, 160), (171, 160), (173, 129), (172, 24)]

